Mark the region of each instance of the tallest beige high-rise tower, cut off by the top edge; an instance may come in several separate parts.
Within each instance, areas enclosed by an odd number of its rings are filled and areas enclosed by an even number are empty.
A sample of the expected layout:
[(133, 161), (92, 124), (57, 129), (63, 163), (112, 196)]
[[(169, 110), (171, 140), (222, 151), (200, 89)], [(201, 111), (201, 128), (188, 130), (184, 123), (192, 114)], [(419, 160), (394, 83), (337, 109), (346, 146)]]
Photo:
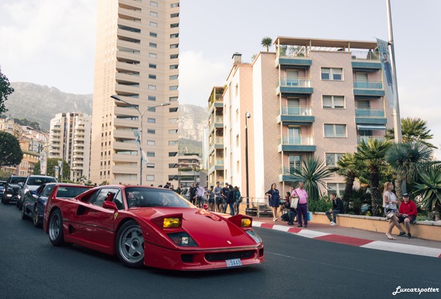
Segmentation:
[[(159, 185), (177, 179), (179, 13), (178, 0), (98, 0), (94, 183), (141, 179)], [(142, 165), (136, 130), (148, 158)]]

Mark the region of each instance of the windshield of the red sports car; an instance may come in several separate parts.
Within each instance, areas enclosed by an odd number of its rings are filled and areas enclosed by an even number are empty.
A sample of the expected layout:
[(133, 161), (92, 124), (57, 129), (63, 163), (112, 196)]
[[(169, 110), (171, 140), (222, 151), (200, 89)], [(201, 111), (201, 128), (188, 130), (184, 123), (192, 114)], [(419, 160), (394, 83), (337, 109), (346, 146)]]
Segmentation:
[(168, 207), (193, 208), (193, 205), (168, 189), (131, 187), (126, 188), (126, 199), (129, 208)]

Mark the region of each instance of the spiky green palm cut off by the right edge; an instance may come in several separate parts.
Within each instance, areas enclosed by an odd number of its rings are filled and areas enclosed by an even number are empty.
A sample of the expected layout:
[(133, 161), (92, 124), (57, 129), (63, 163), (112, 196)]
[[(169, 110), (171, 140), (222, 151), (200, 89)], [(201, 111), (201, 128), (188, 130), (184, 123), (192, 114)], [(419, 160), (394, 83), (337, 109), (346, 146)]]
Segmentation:
[(413, 194), (422, 197), (424, 208), (435, 211), (435, 220), (438, 221), (441, 209), (441, 164), (432, 164), (421, 169), (419, 178), (412, 187)]

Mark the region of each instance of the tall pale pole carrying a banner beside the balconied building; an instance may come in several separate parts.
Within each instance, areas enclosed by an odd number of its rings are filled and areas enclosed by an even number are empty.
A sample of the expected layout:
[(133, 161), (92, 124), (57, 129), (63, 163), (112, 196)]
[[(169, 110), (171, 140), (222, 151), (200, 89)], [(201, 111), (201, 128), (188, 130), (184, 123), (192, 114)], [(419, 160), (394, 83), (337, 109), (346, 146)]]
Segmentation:
[(394, 132), (395, 143), (401, 143), (403, 141), (401, 137), (401, 118), (399, 116), (399, 100), (398, 100), (398, 81), (397, 81), (397, 69), (395, 69), (395, 47), (394, 47), (394, 35), (392, 32), (392, 15), (390, 13), (390, 0), (386, 0), (386, 6), (388, 9), (388, 28), (389, 28), (389, 48), (390, 48), (390, 64), (392, 66), (392, 75), (394, 76), (394, 92), (396, 96), (395, 108), (393, 109), (394, 116)]

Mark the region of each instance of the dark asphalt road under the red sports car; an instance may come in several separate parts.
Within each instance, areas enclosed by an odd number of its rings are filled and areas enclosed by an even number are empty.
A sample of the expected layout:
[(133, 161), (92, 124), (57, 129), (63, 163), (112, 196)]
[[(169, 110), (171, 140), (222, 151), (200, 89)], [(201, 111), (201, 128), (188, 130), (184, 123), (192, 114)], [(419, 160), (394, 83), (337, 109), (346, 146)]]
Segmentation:
[[(128, 269), (80, 246), (54, 247), (0, 205), (0, 298), (440, 298), (441, 259), (322, 242), (256, 228), (266, 263), (241, 269)], [(440, 293), (397, 293), (438, 288)]]

